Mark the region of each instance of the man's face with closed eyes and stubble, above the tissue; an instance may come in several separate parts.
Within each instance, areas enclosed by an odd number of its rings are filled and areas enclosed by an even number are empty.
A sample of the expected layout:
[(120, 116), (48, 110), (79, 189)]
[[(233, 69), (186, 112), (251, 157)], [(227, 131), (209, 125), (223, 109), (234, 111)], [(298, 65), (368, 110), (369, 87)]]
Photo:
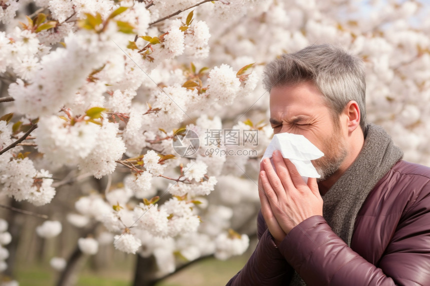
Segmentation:
[(270, 124), (274, 134), (303, 135), (324, 153), (323, 157), (312, 161), (321, 176), (318, 181), (333, 175), (347, 155), (338, 117), (333, 120), (323, 95), (310, 82), (271, 89)]

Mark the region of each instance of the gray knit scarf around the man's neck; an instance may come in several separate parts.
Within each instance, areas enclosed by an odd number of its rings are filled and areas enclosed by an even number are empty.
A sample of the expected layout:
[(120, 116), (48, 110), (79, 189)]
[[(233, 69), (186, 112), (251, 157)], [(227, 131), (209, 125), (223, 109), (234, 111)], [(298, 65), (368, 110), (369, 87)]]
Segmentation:
[[(355, 218), (376, 183), (402, 158), (403, 152), (379, 126), (368, 124), (358, 157), (323, 196), (322, 214), (333, 232), (350, 246)], [(294, 272), (290, 286), (305, 286)]]

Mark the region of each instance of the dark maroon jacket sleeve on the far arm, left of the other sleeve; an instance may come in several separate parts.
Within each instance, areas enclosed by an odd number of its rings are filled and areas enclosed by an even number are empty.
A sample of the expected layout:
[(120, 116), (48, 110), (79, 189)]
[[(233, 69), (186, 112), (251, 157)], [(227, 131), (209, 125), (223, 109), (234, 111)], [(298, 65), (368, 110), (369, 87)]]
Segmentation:
[(288, 285), (293, 269), (286, 263), (273, 242), (261, 212), (257, 218), (258, 244), (251, 257), (227, 286), (284, 286)]

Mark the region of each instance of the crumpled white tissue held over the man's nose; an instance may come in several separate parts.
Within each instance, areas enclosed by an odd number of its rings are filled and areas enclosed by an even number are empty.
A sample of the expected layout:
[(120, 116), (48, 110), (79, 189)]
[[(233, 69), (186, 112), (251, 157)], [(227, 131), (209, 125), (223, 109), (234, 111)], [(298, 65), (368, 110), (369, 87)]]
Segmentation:
[[(285, 132), (273, 135), (273, 139), (267, 146), (261, 160), (264, 158), (271, 158), (272, 153), (275, 150), (280, 150), (282, 157), (289, 159), (291, 163), (294, 164), (298, 173), (305, 182), (307, 182), (307, 178), (320, 177), (310, 160), (318, 159), (324, 156), (324, 153), (319, 151), (319, 149), (310, 143), (310, 141), (303, 135)], [(270, 162), (274, 169), (273, 161), (271, 159)]]

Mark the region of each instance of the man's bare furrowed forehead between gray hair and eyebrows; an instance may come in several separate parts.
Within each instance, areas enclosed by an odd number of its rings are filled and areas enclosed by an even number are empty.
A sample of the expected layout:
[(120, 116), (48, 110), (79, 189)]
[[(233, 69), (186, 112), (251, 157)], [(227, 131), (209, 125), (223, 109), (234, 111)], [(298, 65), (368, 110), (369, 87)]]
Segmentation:
[(270, 90), (270, 115), (312, 115), (328, 112), (324, 95), (310, 82), (282, 85)]

